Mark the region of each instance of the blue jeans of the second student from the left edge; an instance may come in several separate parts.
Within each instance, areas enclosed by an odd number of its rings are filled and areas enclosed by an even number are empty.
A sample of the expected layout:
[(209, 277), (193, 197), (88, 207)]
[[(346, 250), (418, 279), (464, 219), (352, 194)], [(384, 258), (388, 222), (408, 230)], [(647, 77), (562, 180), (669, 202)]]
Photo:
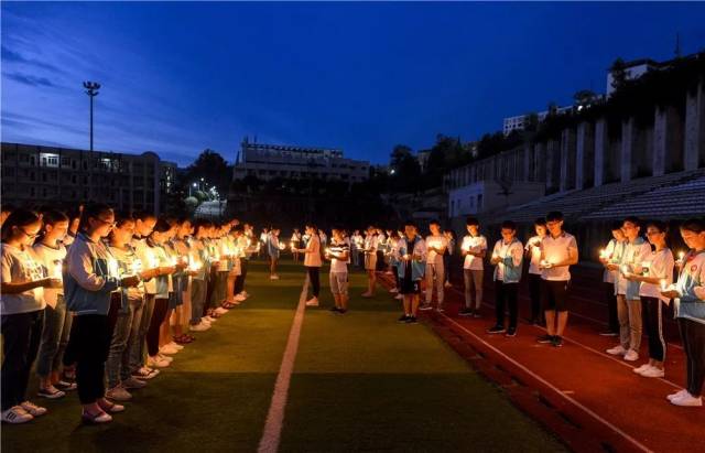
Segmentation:
[(36, 359), (36, 374), (40, 377), (48, 377), (52, 371), (58, 371), (61, 368), (72, 321), (73, 316), (66, 310), (63, 295), (58, 295), (55, 308), (46, 305), (44, 309), (44, 331)]

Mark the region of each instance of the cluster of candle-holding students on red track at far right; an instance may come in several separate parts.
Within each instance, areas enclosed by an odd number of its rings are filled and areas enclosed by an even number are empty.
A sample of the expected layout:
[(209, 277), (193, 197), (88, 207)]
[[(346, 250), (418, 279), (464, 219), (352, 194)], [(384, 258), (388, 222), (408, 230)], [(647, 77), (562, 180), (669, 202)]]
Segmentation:
[[(680, 235), (688, 247), (675, 259), (669, 247), (663, 222), (646, 225), (636, 217), (615, 223), (612, 239), (600, 251), (605, 267), (609, 324), (603, 335), (618, 336), (619, 344), (608, 354), (625, 360), (639, 359), (643, 331), (648, 337), (649, 359), (633, 371), (643, 376), (664, 376), (666, 342), (663, 317), (673, 303), (687, 366), (687, 386), (669, 396), (677, 406), (702, 406), (705, 382), (705, 223), (690, 219), (681, 224)], [(674, 281), (674, 272), (677, 278)]]

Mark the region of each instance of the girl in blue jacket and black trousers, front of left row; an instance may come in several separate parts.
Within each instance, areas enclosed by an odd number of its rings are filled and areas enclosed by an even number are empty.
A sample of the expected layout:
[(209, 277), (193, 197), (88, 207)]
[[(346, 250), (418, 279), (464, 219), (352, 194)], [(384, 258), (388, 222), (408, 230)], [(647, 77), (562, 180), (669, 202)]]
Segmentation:
[(76, 384), (83, 405), (82, 419), (88, 423), (112, 420), (111, 413), (124, 407), (105, 398), (105, 364), (112, 332), (108, 321), (111, 293), (120, 287), (139, 283), (135, 276), (120, 278), (108, 273), (108, 259), (115, 259), (102, 239), (115, 227), (112, 209), (102, 204), (86, 206), (82, 231), (68, 250), (65, 295), (76, 313), (70, 342), (76, 345)]

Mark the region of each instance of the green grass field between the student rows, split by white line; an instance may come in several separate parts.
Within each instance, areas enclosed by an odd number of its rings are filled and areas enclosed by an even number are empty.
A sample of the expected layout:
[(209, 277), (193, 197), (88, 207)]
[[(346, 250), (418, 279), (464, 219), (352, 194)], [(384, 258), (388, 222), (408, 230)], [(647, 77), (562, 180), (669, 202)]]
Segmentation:
[[(79, 423), (75, 395), (42, 400), (50, 413), (2, 427), (2, 450), (254, 451), (303, 281), (301, 265), (271, 282), (252, 262), (252, 296), (175, 356), (173, 365), (101, 427)], [(424, 325), (400, 325), (386, 292), (362, 299), (351, 274), (350, 311), (305, 313), (281, 451), (564, 451)], [(36, 382), (30, 385), (34, 397)]]

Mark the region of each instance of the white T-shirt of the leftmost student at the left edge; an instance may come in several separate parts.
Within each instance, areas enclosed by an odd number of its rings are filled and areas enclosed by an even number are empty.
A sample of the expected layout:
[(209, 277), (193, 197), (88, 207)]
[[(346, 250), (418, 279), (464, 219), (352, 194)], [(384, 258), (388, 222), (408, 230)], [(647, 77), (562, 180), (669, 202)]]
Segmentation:
[[(24, 250), (2, 244), (2, 281), (26, 283), (42, 280), (44, 270), (32, 248)], [(19, 294), (0, 294), (0, 313), (17, 314), (44, 310), (44, 288), (35, 288)]]

